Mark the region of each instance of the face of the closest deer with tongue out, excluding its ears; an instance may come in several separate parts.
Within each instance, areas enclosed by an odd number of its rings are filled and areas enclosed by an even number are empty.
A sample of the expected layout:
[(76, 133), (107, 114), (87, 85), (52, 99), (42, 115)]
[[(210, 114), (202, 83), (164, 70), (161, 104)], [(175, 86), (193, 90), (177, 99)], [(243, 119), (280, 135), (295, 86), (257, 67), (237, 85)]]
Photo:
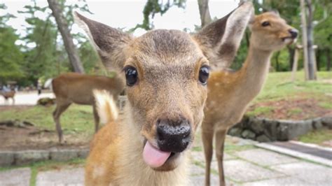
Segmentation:
[(209, 62), (182, 31), (149, 31), (126, 51), (126, 91), (144, 160), (154, 169), (174, 169), (202, 122)]

